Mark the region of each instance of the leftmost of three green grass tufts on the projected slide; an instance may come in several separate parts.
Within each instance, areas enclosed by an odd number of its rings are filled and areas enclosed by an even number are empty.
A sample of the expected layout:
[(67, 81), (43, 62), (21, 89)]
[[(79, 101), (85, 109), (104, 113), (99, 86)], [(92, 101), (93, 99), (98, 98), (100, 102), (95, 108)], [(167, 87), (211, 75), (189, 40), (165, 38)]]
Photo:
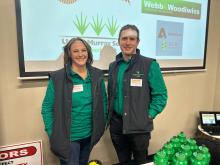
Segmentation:
[(82, 13), (80, 15), (80, 18), (76, 16), (76, 20), (73, 22), (76, 25), (79, 32), (81, 33), (81, 35), (85, 33), (86, 29), (89, 26), (89, 23), (87, 23), (87, 16), (83, 17)]

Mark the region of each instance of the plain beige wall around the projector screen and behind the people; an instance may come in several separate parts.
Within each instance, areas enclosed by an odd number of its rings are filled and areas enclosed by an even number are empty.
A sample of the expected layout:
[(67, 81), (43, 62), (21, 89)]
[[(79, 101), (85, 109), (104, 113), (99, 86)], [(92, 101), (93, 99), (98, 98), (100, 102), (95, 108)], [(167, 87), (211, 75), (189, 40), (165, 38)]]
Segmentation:
[[(165, 74), (168, 104), (155, 119), (150, 153), (156, 152), (180, 131), (192, 136), (199, 110), (220, 109), (220, 1), (212, 0), (207, 48), (207, 71)], [(41, 119), (41, 103), (47, 81), (20, 81), (14, 0), (0, 1), (0, 146), (43, 140), (44, 163), (58, 164), (49, 150)], [(193, 35), (192, 35), (193, 37)], [(92, 158), (108, 165), (116, 161), (108, 132), (94, 148)], [(108, 163), (107, 163), (108, 162)]]

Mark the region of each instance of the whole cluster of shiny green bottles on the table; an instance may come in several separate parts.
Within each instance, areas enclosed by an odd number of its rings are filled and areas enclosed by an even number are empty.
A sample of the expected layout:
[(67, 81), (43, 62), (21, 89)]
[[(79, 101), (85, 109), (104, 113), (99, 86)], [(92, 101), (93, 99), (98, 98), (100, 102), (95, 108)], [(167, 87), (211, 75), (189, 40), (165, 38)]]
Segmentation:
[(198, 146), (193, 138), (181, 132), (173, 136), (154, 155), (155, 165), (209, 165), (211, 154), (206, 146)]

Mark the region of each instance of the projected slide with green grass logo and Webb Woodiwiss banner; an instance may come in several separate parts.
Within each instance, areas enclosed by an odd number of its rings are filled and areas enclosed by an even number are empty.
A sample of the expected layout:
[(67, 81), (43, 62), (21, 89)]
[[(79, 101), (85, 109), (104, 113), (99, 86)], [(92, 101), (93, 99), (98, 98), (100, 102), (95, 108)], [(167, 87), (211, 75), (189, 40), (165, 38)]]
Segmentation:
[(93, 65), (107, 70), (126, 24), (139, 28), (141, 54), (162, 68), (204, 67), (208, 0), (16, 0), (16, 6), (24, 73), (63, 67), (63, 46), (72, 37), (85, 39)]

